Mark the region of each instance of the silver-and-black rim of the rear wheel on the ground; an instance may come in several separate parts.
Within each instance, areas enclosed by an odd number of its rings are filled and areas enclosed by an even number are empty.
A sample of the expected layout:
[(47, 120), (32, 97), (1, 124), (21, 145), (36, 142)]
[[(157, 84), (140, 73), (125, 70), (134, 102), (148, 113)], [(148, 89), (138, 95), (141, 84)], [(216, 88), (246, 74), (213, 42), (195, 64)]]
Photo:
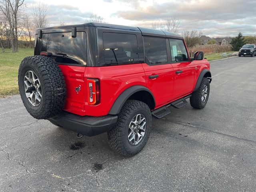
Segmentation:
[(137, 145), (145, 135), (146, 131), (146, 118), (143, 114), (136, 114), (128, 129), (128, 141), (132, 145)]

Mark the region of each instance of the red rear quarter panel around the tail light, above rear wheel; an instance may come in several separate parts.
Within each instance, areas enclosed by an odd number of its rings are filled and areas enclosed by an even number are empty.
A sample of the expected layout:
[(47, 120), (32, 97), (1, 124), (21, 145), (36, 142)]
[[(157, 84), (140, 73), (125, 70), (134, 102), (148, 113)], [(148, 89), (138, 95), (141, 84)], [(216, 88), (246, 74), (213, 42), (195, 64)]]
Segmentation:
[(142, 64), (86, 67), (86, 78), (100, 80), (100, 104), (90, 106), (87, 97), (85, 100), (86, 115), (89, 116), (107, 115), (118, 96), (127, 88), (135, 85), (146, 87)]

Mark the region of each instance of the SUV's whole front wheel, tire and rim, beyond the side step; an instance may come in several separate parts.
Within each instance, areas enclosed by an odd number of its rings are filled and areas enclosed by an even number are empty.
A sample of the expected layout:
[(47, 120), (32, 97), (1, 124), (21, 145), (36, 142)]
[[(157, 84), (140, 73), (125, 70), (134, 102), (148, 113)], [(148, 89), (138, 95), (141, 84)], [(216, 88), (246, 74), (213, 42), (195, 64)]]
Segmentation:
[(202, 82), (195, 92), (190, 97), (190, 105), (196, 109), (202, 109), (206, 106), (210, 94), (210, 82), (208, 78), (203, 78)]

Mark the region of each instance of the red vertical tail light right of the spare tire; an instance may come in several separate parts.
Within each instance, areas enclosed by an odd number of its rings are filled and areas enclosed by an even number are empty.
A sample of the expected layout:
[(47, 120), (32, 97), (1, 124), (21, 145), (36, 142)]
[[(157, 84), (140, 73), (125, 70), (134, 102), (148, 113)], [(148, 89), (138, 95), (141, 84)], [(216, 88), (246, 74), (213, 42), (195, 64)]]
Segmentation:
[(100, 103), (100, 81), (98, 79), (87, 79), (88, 103), (97, 105)]

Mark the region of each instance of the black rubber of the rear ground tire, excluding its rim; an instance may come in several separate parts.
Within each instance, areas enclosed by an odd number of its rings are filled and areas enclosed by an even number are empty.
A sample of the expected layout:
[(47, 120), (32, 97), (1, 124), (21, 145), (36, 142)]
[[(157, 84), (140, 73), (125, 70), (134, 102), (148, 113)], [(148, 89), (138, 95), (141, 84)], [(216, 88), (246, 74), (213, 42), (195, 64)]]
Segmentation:
[(134, 112), (134, 110), (137, 110), (140, 108), (144, 108), (148, 111), (150, 119), (147, 120), (147, 122), (148, 121), (149, 122), (148, 122), (148, 127), (146, 131), (150, 133), (150, 130), (152, 127), (152, 116), (151, 116), (150, 108), (148, 107), (147, 104), (138, 100), (127, 100), (124, 103), (124, 106), (122, 107), (122, 109), (120, 110), (120, 113), (118, 114), (118, 120), (117, 120), (116, 126), (112, 128), (110, 131), (108, 131), (108, 142), (110, 147), (112, 148), (112, 150), (120, 153), (122, 156), (126, 156), (126, 157), (134, 156), (135, 154), (137, 154), (142, 150), (142, 148), (146, 145), (146, 142), (149, 138), (150, 134), (147, 134), (146, 138), (144, 138), (144, 141), (142, 141), (143, 143), (141, 145), (140, 150), (136, 152), (130, 152), (126, 148), (124, 141), (122, 140), (123, 134), (126, 133), (124, 131), (124, 128), (127, 127), (128, 123), (130, 123), (128, 122), (130, 115)]

